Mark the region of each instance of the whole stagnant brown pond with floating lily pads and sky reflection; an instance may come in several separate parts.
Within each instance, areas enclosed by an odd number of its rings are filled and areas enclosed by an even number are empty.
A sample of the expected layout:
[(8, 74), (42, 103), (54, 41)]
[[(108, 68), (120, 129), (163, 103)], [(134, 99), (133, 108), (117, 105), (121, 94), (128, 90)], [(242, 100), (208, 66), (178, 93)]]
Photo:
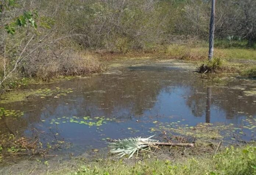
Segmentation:
[(223, 133), (231, 142), (232, 133), (255, 140), (255, 80), (209, 77), (186, 63), (145, 60), (117, 61), (103, 74), (33, 85), (23, 101), (6, 97), (0, 102), (0, 132), (37, 132), (43, 144), (72, 143), (56, 154), (81, 154), (106, 147), (109, 138), (158, 135), (200, 123), (233, 126)]

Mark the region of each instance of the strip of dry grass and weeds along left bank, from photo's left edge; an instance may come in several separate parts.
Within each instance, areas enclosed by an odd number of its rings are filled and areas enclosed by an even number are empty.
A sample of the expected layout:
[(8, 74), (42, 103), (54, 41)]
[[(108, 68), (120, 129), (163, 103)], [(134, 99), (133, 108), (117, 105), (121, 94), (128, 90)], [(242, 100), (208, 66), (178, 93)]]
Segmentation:
[[(4, 61), (0, 57), (0, 81), (4, 78)], [(24, 63), (25, 64), (25, 63)], [(102, 72), (104, 66), (99, 58), (92, 53), (81, 51), (78, 53), (65, 53), (60, 57), (40, 59), (36, 63), (21, 64), (13, 74), (0, 86), (1, 91), (18, 89), (33, 82), (50, 81), (66, 76), (86, 76)], [(12, 64), (7, 64), (6, 69), (13, 69)], [(8, 71), (6, 72), (8, 74)]]

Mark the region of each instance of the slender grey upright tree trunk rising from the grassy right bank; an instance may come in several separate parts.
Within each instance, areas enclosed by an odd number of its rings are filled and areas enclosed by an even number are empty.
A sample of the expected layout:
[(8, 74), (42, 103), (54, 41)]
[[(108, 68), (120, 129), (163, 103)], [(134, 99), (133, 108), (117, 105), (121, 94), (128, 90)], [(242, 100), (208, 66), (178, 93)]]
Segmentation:
[(213, 58), (213, 44), (214, 44), (214, 30), (215, 30), (215, 0), (211, 1), (211, 19), (209, 31), (209, 61)]

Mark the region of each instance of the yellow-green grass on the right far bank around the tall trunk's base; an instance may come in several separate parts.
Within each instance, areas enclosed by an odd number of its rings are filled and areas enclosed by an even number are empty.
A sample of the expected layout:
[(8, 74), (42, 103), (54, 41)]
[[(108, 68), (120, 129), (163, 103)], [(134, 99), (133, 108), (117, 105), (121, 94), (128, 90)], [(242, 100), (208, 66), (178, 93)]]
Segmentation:
[[(212, 61), (207, 61), (208, 47), (202, 43), (195, 45), (171, 44), (166, 47), (164, 53), (167, 58), (196, 61), (196, 63), (203, 61), (198, 68), (199, 73), (239, 72), (242, 76), (256, 77), (256, 68), (251, 67), (251, 64), (255, 64), (256, 61), (255, 49), (247, 48), (244, 42), (217, 42), (216, 45)], [(244, 69), (246, 70), (243, 71)]]

